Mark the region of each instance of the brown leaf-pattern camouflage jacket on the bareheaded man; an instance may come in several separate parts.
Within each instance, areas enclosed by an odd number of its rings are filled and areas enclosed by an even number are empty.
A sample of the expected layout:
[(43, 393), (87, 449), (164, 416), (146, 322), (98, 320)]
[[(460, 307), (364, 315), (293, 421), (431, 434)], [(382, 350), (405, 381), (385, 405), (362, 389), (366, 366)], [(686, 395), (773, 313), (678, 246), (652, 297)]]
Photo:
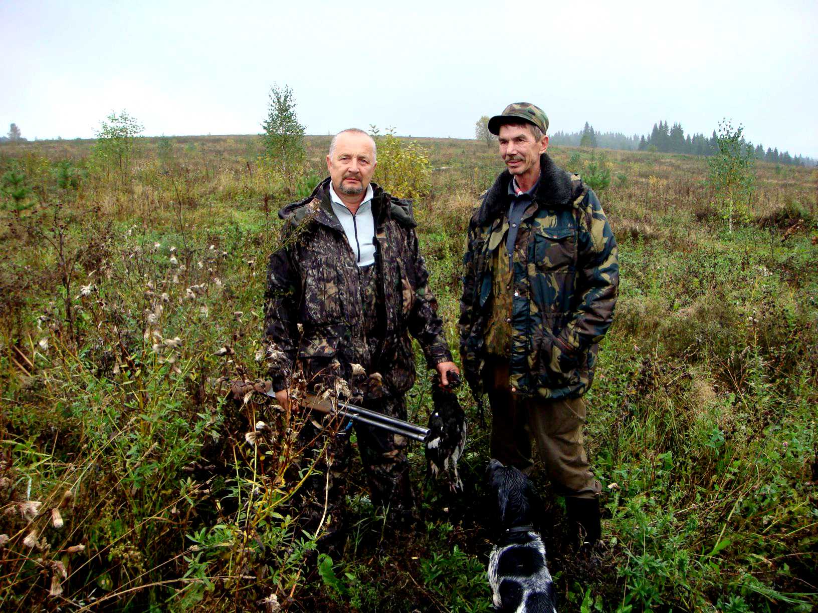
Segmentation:
[(451, 360), (443, 320), (429, 291), (429, 273), (418, 250), (411, 203), (393, 198), (374, 183), (375, 266), (380, 266), (380, 333), (377, 355), (363, 337), (359, 275), (329, 195), (329, 177), (308, 198), (287, 205), (283, 247), (267, 265), (264, 339), (273, 389), (290, 384), (299, 365), (308, 380), (330, 373), (353, 382), (353, 363), (380, 373), (386, 392), (402, 395), (415, 382), (411, 333), (429, 365)]

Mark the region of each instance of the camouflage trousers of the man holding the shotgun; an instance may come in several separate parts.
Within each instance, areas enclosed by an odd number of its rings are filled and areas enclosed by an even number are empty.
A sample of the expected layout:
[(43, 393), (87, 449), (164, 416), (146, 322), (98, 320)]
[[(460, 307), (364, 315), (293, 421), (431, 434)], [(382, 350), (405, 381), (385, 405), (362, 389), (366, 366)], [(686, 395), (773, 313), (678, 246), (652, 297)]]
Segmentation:
[[(407, 418), (403, 397), (385, 396), (363, 406), (391, 417)], [(415, 493), (406, 455), (408, 439), (362, 423), (351, 428), (347, 423), (319, 428), (316, 424), (321, 425), (322, 418), (323, 414), (313, 413), (299, 434), (299, 441), (306, 445), (302, 466), (312, 464), (312, 473), (293, 499), (294, 512), (300, 512), (303, 530), (313, 532), (321, 526), (325, 542), (344, 535), (347, 473), (353, 460), (349, 437), (353, 428), (372, 503), (386, 508), (390, 521), (411, 521)]]

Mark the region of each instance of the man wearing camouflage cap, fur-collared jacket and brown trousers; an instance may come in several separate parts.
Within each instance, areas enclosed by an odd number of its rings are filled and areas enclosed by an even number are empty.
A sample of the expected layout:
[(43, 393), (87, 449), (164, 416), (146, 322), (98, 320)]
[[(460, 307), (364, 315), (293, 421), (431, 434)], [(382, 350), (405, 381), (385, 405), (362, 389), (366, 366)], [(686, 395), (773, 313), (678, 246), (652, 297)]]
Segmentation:
[(492, 457), (533, 468), (530, 437), (585, 543), (600, 482), (582, 441), (599, 342), (613, 319), (617, 246), (593, 190), (558, 168), (548, 118), (519, 102), (492, 117), (506, 163), (471, 218), (459, 321), (465, 377), (492, 406)]

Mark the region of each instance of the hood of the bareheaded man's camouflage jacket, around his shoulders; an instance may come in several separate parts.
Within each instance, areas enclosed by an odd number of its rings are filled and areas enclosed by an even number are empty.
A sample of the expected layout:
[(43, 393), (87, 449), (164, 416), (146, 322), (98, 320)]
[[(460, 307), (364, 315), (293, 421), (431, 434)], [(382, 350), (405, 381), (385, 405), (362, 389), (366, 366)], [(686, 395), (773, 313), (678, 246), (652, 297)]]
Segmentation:
[[(325, 226), (343, 231), (330, 204), (330, 179), (326, 177), (312, 190), (307, 198), (287, 204), (278, 212), (278, 217), (292, 226), (300, 226), (305, 221), (316, 221)], [(412, 212), (411, 200), (395, 198), (377, 183), (372, 186), (372, 213), (375, 216), (375, 226), (383, 226), (392, 218), (402, 226), (414, 228), (417, 226)]]

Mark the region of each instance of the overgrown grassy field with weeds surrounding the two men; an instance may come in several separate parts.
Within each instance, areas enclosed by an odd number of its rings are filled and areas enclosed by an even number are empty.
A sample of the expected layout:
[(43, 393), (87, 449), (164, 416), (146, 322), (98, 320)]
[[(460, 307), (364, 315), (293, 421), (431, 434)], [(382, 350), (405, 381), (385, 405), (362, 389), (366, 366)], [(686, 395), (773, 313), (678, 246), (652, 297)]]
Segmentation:
[[(482, 142), (418, 141), (420, 241), (456, 349), (465, 227), (502, 164)], [(303, 416), (227, 383), (264, 374), (287, 200), (258, 137), (141, 139), (128, 172), (92, 144), (0, 145), (0, 608), (488, 611), (488, 432), (466, 390), (466, 490), (425, 485), (425, 529), (384, 524), (356, 463), (343, 557), (294, 536)], [(308, 138), (301, 193), (328, 144)], [(550, 153), (580, 173), (592, 154)], [(560, 611), (813, 611), (818, 171), (759, 163), (730, 232), (705, 159), (603, 163), (622, 278), (587, 396), (605, 543), (564, 555), (562, 502), (537, 481)], [(259, 419), (272, 434), (250, 444)], [(420, 486), (417, 446), (411, 462)]]

